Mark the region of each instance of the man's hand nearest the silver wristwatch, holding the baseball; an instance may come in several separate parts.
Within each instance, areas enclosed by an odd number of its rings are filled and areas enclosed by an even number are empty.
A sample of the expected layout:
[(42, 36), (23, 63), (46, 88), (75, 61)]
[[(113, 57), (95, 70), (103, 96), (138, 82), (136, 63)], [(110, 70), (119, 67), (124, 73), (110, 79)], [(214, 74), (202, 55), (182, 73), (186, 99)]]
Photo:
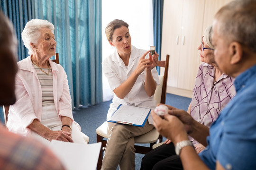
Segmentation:
[(174, 144), (188, 139), (183, 123), (176, 116), (165, 114), (164, 119), (161, 119), (154, 111), (151, 112), (151, 115), (157, 131), (172, 140)]

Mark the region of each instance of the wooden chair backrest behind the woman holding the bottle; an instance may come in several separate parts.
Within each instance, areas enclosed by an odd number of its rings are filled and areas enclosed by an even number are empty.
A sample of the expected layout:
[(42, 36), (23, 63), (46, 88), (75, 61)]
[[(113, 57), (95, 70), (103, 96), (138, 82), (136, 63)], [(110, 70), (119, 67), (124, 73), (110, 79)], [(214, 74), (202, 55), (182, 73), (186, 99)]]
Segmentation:
[(169, 57), (170, 55), (166, 55), (166, 60), (158, 61), (159, 67), (165, 68), (164, 75), (159, 75), (159, 84), (156, 86), (154, 99), (156, 104), (163, 103), (165, 104), (166, 99), (166, 90), (167, 90), (167, 78), (168, 78), (168, 68), (169, 68)]

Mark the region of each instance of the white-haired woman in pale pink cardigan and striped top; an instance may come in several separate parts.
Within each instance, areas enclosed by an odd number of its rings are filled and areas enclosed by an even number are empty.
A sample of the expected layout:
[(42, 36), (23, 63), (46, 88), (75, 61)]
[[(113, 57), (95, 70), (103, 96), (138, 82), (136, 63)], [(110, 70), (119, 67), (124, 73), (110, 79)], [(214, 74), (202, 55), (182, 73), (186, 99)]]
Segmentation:
[(9, 109), (9, 131), (46, 145), (53, 139), (86, 144), (73, 120), (67, 75), (50, 59), (56, 48), (54, 25), (32, 19), (22, 32), (22, 40), (29, 56), (18, 62), (17, 101)]

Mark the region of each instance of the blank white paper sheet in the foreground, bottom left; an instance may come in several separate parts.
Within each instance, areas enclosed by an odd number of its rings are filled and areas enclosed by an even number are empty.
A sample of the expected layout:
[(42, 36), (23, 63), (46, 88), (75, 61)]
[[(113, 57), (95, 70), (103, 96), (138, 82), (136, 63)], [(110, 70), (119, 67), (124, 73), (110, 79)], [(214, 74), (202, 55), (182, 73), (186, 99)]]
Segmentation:
[(63, 162), (67, 170), (96, 170), (101, 142), (76, 144), (52, 140), (50, 149)]

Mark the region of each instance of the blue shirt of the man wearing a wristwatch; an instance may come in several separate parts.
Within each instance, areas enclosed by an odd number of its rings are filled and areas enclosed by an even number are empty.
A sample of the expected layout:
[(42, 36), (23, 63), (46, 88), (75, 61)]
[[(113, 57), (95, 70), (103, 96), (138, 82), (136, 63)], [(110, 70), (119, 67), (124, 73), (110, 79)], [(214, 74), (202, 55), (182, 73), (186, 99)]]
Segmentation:
[(236, 77), (237, 94), (210, 127), (200, 153), (211, 170), (216, 161), (228, 170), (256, 170), (256, 65)]

